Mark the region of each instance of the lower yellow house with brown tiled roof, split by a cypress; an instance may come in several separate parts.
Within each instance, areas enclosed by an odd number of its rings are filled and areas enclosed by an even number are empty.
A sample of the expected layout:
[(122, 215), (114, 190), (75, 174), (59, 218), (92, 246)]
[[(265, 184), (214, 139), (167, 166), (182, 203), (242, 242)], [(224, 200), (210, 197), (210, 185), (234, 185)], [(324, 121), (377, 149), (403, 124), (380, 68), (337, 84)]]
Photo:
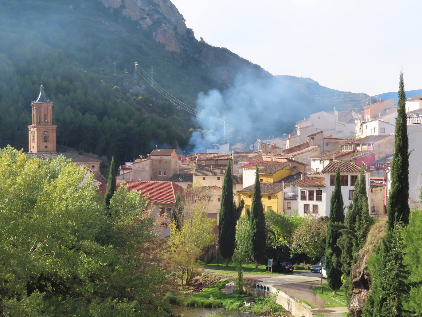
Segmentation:
[[(274, 210), (277, 213), (284, 212), (283, 185), (283, 183), (261, 183), (261, 200), (264, 212), (268, 210)], [(251, 208), (254, 187), (255, 185), (251, 185), (238, 191), (238, 201), (244, 200), (245, 209)], [(246, 214), (246, 210), (243, 213)]]

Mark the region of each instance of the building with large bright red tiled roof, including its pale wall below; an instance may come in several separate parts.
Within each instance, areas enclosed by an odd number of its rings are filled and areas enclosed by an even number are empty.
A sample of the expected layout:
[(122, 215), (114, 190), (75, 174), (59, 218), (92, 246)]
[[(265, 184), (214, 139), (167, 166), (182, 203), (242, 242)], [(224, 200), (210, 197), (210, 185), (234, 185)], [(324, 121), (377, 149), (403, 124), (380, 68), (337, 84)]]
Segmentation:
[[(122, 180), (116, 180), (116, 189), (122, 184)], [(151, 215), (154, 217), (163, 216), (161, 224), (163, 234), (162, 237), (170, 235), (168, 228), (168, 215), (170, 215), (175, 208), (176, 195), (180, 193), (184, 195), (184, 189), (173, 182), (163, 181), (143, 181), (143, 180), (128, 180), (124, 181), (129, 191), (140, 191), (142, 197), (147, 197), (147, 210), (151, 210)], [(108, 183), (98, 190), (100, 194), (105, 195)]]

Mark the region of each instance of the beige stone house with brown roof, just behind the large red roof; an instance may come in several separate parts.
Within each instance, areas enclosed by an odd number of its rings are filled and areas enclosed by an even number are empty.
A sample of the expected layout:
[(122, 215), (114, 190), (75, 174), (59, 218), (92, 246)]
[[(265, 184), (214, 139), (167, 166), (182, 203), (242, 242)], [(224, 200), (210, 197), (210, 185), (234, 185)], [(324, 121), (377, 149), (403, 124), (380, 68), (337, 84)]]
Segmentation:
[(179, 155), (175, 149), (156, 149), (146, 158), (119, 167), (117, 180), (165, 180), (179, 171)]

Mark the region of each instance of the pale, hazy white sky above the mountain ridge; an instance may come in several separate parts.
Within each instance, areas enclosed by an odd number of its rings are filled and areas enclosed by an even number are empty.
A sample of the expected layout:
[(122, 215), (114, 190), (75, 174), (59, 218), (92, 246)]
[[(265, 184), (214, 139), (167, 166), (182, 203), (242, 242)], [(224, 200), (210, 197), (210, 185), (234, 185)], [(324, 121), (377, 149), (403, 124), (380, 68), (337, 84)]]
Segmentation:
[(196, 38), (274, 75), (376, 95), (422, 89), (422, 1), (171, 0)]

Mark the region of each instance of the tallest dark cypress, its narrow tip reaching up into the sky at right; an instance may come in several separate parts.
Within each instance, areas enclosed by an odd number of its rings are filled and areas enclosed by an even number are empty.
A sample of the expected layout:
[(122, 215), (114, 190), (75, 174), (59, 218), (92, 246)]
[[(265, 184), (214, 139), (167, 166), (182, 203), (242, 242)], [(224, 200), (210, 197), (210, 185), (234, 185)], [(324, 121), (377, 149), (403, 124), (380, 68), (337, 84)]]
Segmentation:
[(406, 125), (406, 92), (403, 71), (400, 72), (394, 155), (391, 165), (391, 191), (387, 205), (387, 227), (398, 221), (409, 223), (409, 139)]

